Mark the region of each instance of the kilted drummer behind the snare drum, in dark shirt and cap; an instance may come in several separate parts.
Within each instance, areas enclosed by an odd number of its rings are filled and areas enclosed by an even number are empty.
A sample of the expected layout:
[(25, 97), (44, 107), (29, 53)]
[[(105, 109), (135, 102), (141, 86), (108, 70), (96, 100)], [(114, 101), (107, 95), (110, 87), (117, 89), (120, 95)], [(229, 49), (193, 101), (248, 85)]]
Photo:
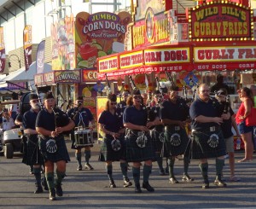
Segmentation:
[[(71, 108), (67, 115), (73, 119), (75, 123), (75, 128), (78, 128), (79, 126), (82, 126), (85, 128), (90, 128), (92, 131), (95, 127), (95, 120), (93, 119), (92, 113), (90, 112), (90, 109), (84, 107), (84, 99), (83, 96), (79, 96), (78, 99), (75, 102), (75, 106)], [(75, 157), (78, 161), (78, 171), (82, 171), (82, 154), (81, 150), (84, 148), (84, 158), (85, 158), (85, 165), (84, 168), (88, 170), (93, 170), (94, 168), (90, 165), (90, 147), (93, 147), (93, 145), (90, 143), (90, 145), (84, 145), (84, 146), (78, 146), (75, 142), (75, 135), (74, 130), (70, 134), (72, 145), (71, 148), (75, 149)]]

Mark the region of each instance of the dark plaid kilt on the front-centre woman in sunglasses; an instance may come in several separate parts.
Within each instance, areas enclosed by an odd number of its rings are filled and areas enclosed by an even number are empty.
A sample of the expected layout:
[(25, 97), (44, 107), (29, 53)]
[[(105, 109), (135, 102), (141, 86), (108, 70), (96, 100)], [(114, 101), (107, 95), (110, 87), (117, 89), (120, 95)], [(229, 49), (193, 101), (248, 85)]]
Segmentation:
[(137, 137), (140, 136), (140, 132), (142, 131), (127, 131), (127, 135), (125, 136), (127, 162), (155, 160), (153, 142), (148, 132), (145, 133), (145, 136), (148, 138), (145, 147), (138, 147)]

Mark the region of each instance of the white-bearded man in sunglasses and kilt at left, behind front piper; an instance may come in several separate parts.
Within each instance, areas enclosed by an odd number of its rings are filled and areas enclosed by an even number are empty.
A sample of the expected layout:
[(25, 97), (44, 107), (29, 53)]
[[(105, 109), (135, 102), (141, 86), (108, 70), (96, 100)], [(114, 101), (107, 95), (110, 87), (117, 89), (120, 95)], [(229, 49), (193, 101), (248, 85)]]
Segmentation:
[(32, 166), (32, 173), (36, 178), (35, 194), (43, 193), (41, 185), (41, 166), (44, 165), (44, 159), (38, 147), (38, 132), (36, 131), (36, 119), (40, 111), (38, 95), (29, 95), (29, 104), (31, 109), (24, 113), (22, 117), (22, 125), (24, 134), (26, 135), (26, 152), (23, 155), (22, 163)]

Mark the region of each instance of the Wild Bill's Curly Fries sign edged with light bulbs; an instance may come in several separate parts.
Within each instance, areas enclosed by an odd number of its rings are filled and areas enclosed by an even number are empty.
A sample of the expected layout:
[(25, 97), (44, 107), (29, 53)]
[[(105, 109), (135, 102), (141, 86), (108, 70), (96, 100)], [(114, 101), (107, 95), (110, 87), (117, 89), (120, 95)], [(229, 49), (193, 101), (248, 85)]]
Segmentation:
[[(252, 38), (251, 10), (235, 3), (210, 3), (189, 10), (189, 38)], [(210, 39), (210, 40), (211, 40)]]

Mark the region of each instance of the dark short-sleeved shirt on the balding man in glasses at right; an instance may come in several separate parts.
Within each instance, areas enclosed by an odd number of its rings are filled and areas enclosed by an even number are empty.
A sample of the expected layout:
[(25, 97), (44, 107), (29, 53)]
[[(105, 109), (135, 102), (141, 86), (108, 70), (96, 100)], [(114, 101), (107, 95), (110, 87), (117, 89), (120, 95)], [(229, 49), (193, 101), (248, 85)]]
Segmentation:
[(195, 121), (195, 118), (200, 115), (206, 117), (220, 117), (220, 111), (220, 105), (217, 100), (210, 99), (208, 102), (203, 102), (200, 98), (197, 98), (189, 109), (189, 115), (192, 119), (192, 129), (200, 131), (207, 130), (211, 126), (219, 126), (217, 123), (200, 123)]

